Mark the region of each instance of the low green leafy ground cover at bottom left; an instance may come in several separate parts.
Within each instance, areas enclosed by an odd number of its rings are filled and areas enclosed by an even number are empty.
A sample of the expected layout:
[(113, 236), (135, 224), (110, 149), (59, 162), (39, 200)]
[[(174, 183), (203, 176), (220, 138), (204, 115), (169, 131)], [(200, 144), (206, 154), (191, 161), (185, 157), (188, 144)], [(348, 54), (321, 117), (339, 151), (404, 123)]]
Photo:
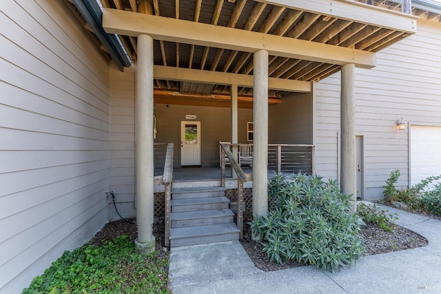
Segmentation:
[(127, 236), (103, 246), (84, 244), (65, 251), (23, 293), (169, 293), (168, 260), (156, 254), (144, 258), (134, 253)]

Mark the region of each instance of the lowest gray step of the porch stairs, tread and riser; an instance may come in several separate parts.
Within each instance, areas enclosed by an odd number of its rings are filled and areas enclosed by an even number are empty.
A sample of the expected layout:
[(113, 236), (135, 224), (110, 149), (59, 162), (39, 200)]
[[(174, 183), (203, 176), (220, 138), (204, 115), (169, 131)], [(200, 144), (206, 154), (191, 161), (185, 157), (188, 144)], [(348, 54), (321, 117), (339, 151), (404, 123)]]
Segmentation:
[(189, 246), (239, 240), (236, 224), (209, 224), (207, 226), (172, 229), (170, 247)]

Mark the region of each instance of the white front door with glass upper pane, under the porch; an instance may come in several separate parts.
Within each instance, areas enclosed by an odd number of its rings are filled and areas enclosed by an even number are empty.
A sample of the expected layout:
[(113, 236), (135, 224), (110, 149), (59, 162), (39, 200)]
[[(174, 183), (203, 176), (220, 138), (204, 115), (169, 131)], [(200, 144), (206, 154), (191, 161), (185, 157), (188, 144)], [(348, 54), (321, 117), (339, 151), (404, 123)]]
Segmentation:
[(181, 121), (181, 166), (201, 165), (201, 122)]

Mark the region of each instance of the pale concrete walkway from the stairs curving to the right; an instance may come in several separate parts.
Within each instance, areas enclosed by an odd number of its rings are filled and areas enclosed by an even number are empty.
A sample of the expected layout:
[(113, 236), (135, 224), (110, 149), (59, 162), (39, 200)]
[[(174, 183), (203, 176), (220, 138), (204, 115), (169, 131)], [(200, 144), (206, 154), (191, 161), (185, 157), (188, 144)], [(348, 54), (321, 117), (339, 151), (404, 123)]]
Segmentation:
[(170, 255), (172, 293), (441, 293), (441, 221), (382, 209), (429, 245), (360, 258), (338, 273), (315, 266), (260, 271), (237, 241), (179, 247)]

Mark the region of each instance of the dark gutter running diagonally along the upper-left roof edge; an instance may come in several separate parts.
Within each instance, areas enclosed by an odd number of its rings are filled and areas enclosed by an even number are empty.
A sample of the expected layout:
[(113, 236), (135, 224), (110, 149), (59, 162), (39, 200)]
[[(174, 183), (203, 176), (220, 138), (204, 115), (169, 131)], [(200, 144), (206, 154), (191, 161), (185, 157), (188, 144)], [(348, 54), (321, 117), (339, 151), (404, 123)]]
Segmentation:
[(118, 36), (115, 34), (107, 34), (103, 29), (103, 12), (96, 0), (73, 0), (72, 1), (79, 12), (83, 14), (85, 21), (88, 22), (94, 34), (103, 44), (107, 52), (118, 65), (121, 71), (124, 67), (130, 67), (132, 60), (125, 52), (123, 46), (119, 42)]

